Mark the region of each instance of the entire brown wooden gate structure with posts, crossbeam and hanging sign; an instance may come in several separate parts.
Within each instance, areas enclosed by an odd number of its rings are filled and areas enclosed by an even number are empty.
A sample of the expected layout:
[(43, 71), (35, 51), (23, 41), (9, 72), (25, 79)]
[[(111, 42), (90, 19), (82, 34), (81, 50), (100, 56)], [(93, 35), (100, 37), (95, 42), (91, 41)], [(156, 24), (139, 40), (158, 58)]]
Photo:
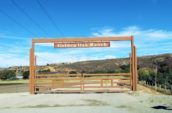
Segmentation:
[[(110, 47), (111, 41), (130, 41), (130, 72), (100, 74), (37, 74), (36, 43), (54, 43), (55, 48)], [(88, 38), (37, 38), (32, 39), (30, 49), (29, 92), (74, 93), (74, 92), (123, 92), (137, 90), (137, 56), (133, 36), (88, 37)]]

